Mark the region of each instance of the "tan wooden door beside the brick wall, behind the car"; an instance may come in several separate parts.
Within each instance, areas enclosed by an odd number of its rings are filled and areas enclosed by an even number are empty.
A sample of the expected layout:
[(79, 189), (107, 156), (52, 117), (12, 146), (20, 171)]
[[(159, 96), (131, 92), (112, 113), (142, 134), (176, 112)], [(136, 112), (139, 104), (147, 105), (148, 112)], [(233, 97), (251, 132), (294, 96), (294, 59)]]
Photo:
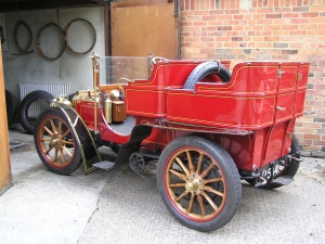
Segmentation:
[(174, 1), (112, 2), (112, 55), (179, 59), (179, 17)]

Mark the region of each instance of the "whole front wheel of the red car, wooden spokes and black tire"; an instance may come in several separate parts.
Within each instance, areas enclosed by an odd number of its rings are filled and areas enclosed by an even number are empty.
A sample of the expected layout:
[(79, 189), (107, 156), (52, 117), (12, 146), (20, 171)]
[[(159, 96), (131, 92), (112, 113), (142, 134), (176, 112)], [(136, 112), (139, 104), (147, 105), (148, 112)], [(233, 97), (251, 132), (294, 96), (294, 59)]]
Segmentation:
[(70, 125), (58, 110), (49, 110), (38, 117), (34, 139), (42, 163), (51, 171), (69, 175), (79, 167), (79, 145)]

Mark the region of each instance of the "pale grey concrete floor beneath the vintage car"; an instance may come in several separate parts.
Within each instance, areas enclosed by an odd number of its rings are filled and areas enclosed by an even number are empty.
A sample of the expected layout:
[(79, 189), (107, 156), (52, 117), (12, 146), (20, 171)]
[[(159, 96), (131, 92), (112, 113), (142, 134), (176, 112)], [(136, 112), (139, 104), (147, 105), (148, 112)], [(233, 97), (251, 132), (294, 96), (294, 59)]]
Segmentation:
[[(296, 180), (274, 191), (243, 182), (229, 224), (200, 233), (169, 214), (156, 187), (128, 166), (84, 176), (50, 172), (32, 136), (11, 151), (14, 185), (0, 196), (0, 243), (325, 243), (325, 160), (306, 157)], [(110, 150), (103, 153), (112, 154)]]

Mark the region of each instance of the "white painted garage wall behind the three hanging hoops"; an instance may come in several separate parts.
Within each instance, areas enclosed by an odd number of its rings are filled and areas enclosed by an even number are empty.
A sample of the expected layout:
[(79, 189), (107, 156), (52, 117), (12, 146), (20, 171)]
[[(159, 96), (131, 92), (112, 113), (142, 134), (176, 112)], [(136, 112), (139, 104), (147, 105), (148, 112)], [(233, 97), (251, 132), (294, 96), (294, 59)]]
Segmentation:
[[(50, 61), (44, 59), (37, 49), (37, 34), (46, 24), (52, 22), (65, 29), (67, 24), (75, 18), (89, 21), (96, 30), (96, 43), (92, 51), (87, 54), (75, 54), (68, 49), (63, 55)], [(8, 51), (3, 52), (3, 72), (5, 89), (20, 98), (20, 82), (44, 82), (44, 84), (72, 84), (72, 92), (80, 89), (92, 88), (92, 66), (89, 56), (93, 51), (99, 55), (105, 54), (104, 43), (104, 8), (79, 8), (63, 10), (41, 10), (5, 13)], [(34, 53), (13, 55), (18, 53), (14, 42), (14, 27), (18, 21), (24, 21), (32, 33), (30, 50)], [(86, 51), (91, 47), (91, 28), (81, 28), (76, 22), (68, 31), (69, 44), (78, 51)], [(54, 33), (53, 33), (54, 31)], [(18, 29), (18, 42), (22, 47), (28, 42), (28, 34), (24, 26)], [(48, 55), (56, 56), (57, 49), (62, 47), (62, 37), (55, 28), (43, 30), (40, 39), (41, 48)]]

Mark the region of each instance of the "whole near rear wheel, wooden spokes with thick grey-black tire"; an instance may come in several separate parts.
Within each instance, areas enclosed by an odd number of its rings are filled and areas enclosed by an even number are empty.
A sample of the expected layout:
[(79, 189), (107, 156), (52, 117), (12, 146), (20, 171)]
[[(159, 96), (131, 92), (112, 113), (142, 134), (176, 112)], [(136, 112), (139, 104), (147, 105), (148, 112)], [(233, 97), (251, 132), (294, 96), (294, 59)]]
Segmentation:
[(184, 226), (211, 231), (234, 216), (242, 195), (238, 171), (219, 144), (180, 137), (162, 151), (157, 182), (167, 208)]

